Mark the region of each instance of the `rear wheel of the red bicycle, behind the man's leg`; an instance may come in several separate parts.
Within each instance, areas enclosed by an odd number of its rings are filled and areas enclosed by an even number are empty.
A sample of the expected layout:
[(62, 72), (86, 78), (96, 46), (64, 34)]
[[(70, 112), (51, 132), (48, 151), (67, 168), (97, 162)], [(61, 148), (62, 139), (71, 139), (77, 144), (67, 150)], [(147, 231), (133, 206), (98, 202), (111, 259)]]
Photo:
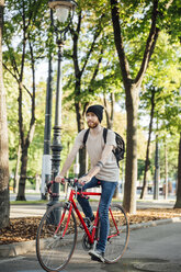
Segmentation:
[(129, 226), (124, 208), (118, 204), (112, 204), (109, 211), (110, 233), (105, 248), (104, 259), (106, 263), (116, 262), (125, 252)]

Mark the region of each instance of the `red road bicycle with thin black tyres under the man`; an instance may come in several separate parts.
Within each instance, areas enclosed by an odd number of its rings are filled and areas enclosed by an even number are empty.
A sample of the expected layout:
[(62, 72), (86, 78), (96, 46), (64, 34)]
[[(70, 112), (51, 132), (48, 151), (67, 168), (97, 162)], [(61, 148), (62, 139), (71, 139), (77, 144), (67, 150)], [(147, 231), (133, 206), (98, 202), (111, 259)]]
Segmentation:
[[(84, 250), (95, 247), (99, 240), (99, 206), (92, 226), (88, 228), (75, 201), (77, 195), (101, 195), (95, 192), (82, 192), (77, 180), (67, 179), (71, 188), (68, 201), (53, 205), (43, 216), (36, 236), (36, 254), (42, 268), (48, 272), (61, 271), (69, 262), (77, 242), (78, 226), (83, 229), (81, 237)], [(53, 195), (49, 184), (48, 192)], [(79, 224), (77, 222), (79, 218)], [(125, 211), (118, 204), (109, 208), (110, 233), (104, 253), (105, 263), (116, 262), (125, 252), (129, 225)]]

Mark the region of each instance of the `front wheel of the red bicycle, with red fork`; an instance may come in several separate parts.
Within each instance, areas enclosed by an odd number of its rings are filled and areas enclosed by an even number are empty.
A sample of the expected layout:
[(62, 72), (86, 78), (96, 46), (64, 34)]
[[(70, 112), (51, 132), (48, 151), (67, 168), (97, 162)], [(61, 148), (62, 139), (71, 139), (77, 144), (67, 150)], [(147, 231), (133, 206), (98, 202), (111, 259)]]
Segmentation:
[(69, 262), (77, 241), (77, 224), (67, 203), (53, 205), (43, 216), (36, 236), (36, 254), (42, 268), (58, 272)]

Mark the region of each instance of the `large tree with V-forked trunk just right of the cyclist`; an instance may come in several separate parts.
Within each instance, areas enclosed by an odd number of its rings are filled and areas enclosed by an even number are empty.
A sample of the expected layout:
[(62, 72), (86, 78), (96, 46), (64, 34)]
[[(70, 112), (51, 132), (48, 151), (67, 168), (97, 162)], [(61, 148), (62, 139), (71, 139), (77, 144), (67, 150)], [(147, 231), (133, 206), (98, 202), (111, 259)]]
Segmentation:
[[(160, 29), (166, 26), (163, 18), (168, 20), (172, 2), (172, 0), (161, 2), (152, 0), (120, 3), (117, 0), (111, 0), (114, 41), (126, 93), (127, 147), (123, 205), (129, 213), (136, 212), (138, 92)], [(138, 41), (142, 42), (139, 46)]]

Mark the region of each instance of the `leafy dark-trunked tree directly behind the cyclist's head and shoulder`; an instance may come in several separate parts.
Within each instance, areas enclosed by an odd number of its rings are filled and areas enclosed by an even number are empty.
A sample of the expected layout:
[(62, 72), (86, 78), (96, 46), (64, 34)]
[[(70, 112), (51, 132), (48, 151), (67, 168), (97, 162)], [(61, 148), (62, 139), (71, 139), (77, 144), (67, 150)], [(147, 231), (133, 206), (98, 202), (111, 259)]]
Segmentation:
[[(77, 131), (84, 128), (84, 113), (95, 95), (95, 82), (99, 75), (104, 52), (103, 21), (104, 16), (95, 16), (94, 12), (88, 12), (79, 3), (77, 24), (70, 27), (72, 38), (72, 53), (67, 54), (73, 64), (72, 72), (67, 87), (72, 88), (68, 100), (73, 100), (76, 109)], [(84, 27), (87, 34), (84, 35)], [(66, 53), (65, 53), (66, 55)], [(73, 82), (73, 86), (70, 84)], [(86, 172), (86, 150), (79, 151), (80, 175)]]

